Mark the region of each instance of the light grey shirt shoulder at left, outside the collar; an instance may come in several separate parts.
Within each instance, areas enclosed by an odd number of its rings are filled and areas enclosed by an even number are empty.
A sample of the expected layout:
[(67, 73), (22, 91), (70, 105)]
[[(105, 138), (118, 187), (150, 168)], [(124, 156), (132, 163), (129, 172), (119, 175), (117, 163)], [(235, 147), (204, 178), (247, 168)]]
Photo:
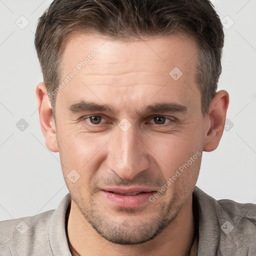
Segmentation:
[(52, 255), (49, 228), (54, 211), (0, 221), (0, 255)]

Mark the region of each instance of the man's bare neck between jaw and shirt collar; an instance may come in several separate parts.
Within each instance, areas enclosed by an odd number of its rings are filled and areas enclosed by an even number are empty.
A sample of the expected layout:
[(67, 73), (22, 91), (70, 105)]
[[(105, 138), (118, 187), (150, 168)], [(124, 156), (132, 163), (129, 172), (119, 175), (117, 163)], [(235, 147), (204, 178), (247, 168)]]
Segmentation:
[(149, 252), (150, 255), (196, 255), (197, 239), (194, 239), (194, 228), (192, 196), (162, 232), (141, 244), (120, 245), (107, 241), (86, 221), (73, 201), (67, 221), (67, 235), (73, 256), (141, 256), (148, 255)]

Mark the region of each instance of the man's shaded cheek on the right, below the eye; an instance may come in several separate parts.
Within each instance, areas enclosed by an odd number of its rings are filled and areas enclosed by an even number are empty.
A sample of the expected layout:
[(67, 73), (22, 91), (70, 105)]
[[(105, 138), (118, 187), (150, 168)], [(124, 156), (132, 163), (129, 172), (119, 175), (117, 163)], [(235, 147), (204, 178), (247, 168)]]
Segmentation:
[(171, 181), (180, 182), (190, 178), (197, 179), (203, 147), (203, 132), (198, 125), (190, 125), (187, 131), (183, 130), (179, 134), (152, 136), (148, 139), (147, 146), (165, 180), (171, 178)]

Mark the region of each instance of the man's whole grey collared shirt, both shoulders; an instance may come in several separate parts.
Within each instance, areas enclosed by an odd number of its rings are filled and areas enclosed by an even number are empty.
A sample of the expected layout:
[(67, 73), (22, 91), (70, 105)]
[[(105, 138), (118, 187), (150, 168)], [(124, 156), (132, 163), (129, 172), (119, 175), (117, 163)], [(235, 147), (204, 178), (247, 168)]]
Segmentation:
[[(198, 256), (255, 256), (256, 205), (215, 200), (198, 187)], [(66, 194), (56, 210), (0, 221), (0, 256), (71, 256), (66, 236)], [(100, 255), (100, 252), (95, 251)]]

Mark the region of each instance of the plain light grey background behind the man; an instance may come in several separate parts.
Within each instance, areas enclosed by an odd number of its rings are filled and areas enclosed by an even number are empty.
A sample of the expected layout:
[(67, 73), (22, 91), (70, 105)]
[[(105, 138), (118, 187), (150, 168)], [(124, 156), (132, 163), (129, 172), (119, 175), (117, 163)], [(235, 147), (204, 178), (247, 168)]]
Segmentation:
[[(50, 2), (0, 0), (2, 220), (56, 208), (68, 192), (58, 153), (45, 147), (35, 98), (35, 86), (42, 75), (33, 45), (34, 32), (38, 17)], [(203, 153), (197, 186), (216, 199), (255, 203), (256, 1), (212, 2), (226, 27), (219, 89), (226, 89), (230, 95), (229, 126), (219, 147)], [(26, 20), (29, 24), (23, 28)], [(23, 131), (16, 127), (21, 118), (29, 125)]]

